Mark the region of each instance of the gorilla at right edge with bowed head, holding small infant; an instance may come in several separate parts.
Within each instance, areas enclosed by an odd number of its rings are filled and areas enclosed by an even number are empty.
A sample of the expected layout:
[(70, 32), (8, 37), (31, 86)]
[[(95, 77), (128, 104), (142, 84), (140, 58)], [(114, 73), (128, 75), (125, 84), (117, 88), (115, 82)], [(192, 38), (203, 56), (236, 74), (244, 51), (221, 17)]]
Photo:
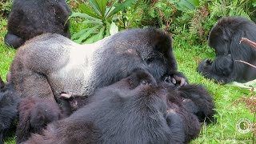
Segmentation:
[(210, 31), (208, 43), (216, 53), (214, 61), (203, 60), (198, 72), (215, 82), (248, 82), (256, 78), (256, 69), (242, 60), (256, 65), (256, 49), (246, 43), (239, 44), (241, 38), (256, 42), (256, 24), (247, 18), (226, 17)]

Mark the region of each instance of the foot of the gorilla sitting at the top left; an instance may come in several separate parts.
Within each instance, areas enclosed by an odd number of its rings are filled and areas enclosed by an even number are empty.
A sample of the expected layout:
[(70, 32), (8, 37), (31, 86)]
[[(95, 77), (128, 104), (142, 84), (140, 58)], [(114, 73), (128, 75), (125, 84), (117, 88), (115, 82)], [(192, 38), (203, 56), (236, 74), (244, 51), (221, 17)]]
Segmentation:
[(19, 38), (17, 35), (11, 34), (9, 31), (6, 34), (4, 41), (6, 45), (13, 46), (14, 48), (18, 48), (24, 43), (22, 38)]

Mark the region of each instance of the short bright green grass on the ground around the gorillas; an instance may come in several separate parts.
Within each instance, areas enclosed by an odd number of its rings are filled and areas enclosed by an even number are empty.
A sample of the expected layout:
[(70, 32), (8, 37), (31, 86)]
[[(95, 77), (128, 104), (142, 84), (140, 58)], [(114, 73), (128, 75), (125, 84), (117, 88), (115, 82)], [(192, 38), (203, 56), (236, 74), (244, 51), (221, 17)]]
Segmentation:
[[(71, 27), (76, 29), (75, 26)], [(0, 75), (6, 78), (10, 63), (14, 58), (15, 50), (3, 43), (6, 34), (6, 19), (0, 18)], [(206, 86), (213, 96), (218, 122), (214, 125), (202, 126), (200, 136), (192, 143), (252, 143), (252, 134), (241, 134), (236, 129), (240, 118), (248, 118), (253, 121), (254, 115), (246, 109), (244, 104), (234, 105), (238, 98), (246, 96), (241, 90), (231, 86), (222, 86), (203, 78), (196, 72), (198, 58), (214, 58), (214, 52), (207, 46), (191, 46), (186, 42), (186, 37), (174, 36), (174, 54), (178, 61), (178, 70), (186, 74), (190, 83)], [(7, 144), (14, 142), (14, 134), (6, 139)]]

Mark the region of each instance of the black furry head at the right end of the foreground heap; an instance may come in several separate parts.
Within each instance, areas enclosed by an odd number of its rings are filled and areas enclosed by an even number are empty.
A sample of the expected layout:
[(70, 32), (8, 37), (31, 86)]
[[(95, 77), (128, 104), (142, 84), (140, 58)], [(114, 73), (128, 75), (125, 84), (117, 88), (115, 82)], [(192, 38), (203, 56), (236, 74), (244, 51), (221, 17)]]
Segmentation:
[(170, 81), (163, 81), (159, 85), (172, 95), (171, 98), (176, 99), (174, 101), (178, 99), (179, 106), (185, 107), (187, 111), (196, 115), (199, 122), (216, 122), (214, 114), (217, 112), (214, 110), (214, 100), (205, 87), (194, 84), (174, 86)]

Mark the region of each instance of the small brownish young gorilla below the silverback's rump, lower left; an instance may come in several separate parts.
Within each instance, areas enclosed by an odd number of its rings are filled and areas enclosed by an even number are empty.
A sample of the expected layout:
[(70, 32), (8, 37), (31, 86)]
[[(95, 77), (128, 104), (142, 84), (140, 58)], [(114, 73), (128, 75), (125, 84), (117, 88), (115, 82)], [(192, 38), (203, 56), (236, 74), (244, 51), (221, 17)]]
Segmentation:
[(56, 102), (41, 98), (24, 98), (18, 105), (18, 113), (16, 140), (20, 143), (26, 141), (31, 133), (41, 134), (48, 123), (66, 118), (69, 111), (60, 109)]

